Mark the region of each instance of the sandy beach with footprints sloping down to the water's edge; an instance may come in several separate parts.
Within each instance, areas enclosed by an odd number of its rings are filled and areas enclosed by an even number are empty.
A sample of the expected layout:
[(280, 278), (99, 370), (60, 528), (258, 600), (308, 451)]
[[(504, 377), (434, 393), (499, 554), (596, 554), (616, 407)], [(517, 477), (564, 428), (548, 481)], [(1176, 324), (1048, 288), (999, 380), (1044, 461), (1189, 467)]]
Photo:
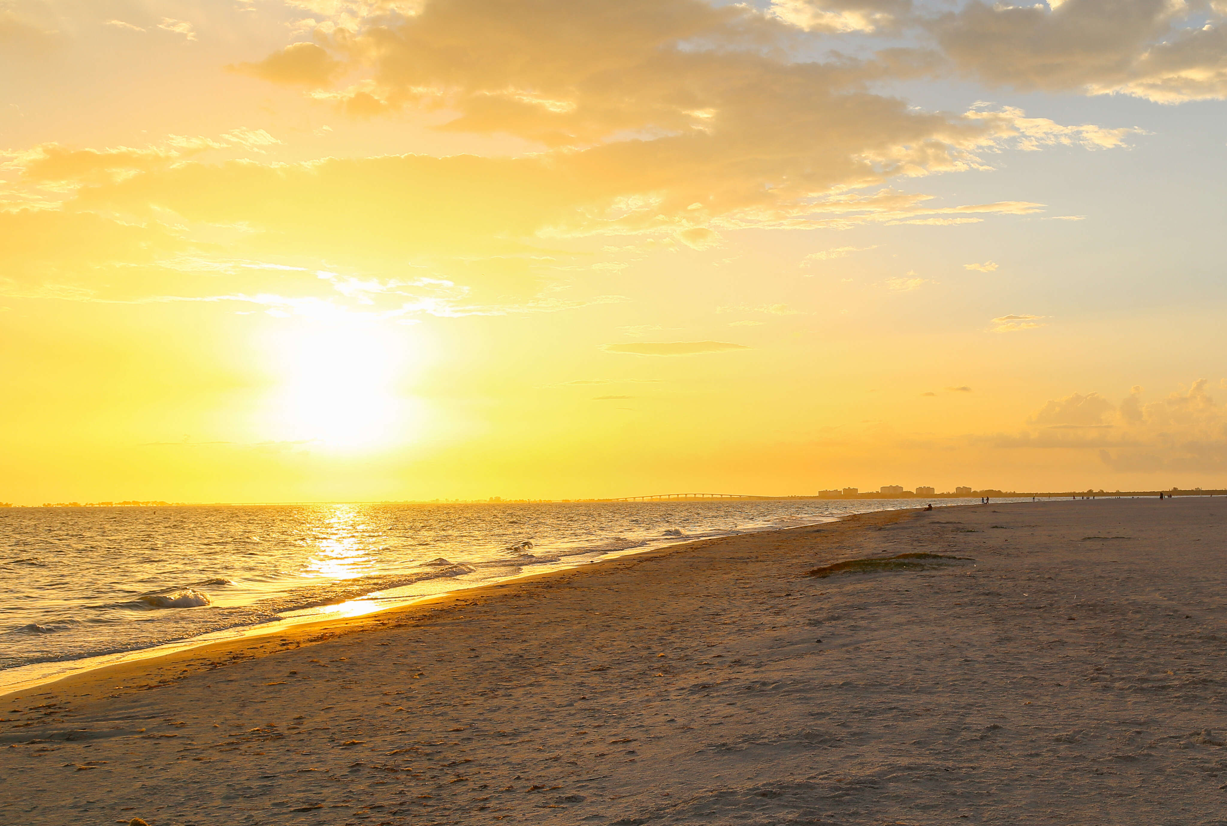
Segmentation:
[[(707, 539), (0, 700), (13, 824), (1227, 824), (1227, 498)], [(934, 554), (897, 571), (807, 572)]]

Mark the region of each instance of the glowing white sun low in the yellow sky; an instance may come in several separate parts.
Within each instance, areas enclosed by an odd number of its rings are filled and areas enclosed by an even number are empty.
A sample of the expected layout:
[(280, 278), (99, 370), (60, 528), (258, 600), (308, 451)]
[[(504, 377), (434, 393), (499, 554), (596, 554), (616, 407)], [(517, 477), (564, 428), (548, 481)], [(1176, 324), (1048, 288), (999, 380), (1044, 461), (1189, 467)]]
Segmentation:
[(404, 441), (411, 405), (398, 390), (412, 366), (404, 334), (362, 315), (294, 322), (272, 347), (277, 441), (348, 449)]

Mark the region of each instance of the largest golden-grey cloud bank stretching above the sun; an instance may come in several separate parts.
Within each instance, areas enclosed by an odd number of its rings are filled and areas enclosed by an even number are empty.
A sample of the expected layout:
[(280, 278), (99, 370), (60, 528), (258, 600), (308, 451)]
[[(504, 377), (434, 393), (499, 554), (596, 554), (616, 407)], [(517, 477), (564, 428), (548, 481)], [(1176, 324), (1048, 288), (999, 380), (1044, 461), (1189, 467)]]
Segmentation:
[[(320, 101), (366, 115), (412, 109), (439, 130), (512, 136), (533, 151), (206, 162), (209, 151), (258, 156), (276, 147), (267, 133), (238, 129), (146, 147), (47, 144), (13, 162), (26, 176), (21, 185), (64, 195), (49, 211), (65, 216), (65, 227), (77, 220), (69, 214), (106, 216), (117, 237), (128, 232), (123, 227), (148, 227), (161, 253), (173, 250), (172, 260), (190, 252), (196, 259), (331, 269), (356, 281), (319, 282), (315, 297), (344, 290), (347, 299), (378, 303), (380, 312), (453, 317), (621, 301), (558, 297), (558, 264), (528, 260), (545, 244), (583, 236), (707, 248), (737, 228), (1032, 215), (1043, 205), (939, 203), (888, 184), (985, 169), (985, 158), (1011, 147), (1108, 147), (1128, 134), (1061, 126), (1012, 108), (955, 114), (908, 106), (874, 90), (934, 71), (931, 54), (795, 56), (799, 29), (779, 16), (787, 4), (774, 15), (699, 0), (541, 0), (529, 9), (425, 0), (396, 6), (400, 12), (387, 2), (310, 5), (314, 42), (234, 70), (304, 86)], [(881, 27), (886, 17), (874, 15), (909, 14), (906, 2), (885, 0), (800, 5), (865, 12)], [(162, 26), (195, 37), (185, 21)], [(39, 198), (45, 203), (45, 191)], [(205, 237), (225, 243), (196, 241)], [(42, 265), (29, 259), (22, 270), (39, 272), (39, 288), (97, 295), (104, 287), (85, 281), (115, 264), (104, 248), (93, 258), (76, 254), (82, 266), (75, 270), (61, 265), (61, 253), (44, 252)], [(178, 272), (157, 254), (139, 259), (163, 275)], [(406, 268), (429, 270), (450, 286), (399, 284)], [(130, 274), (123, 295), (136, 295), (137, 280), (155, 284), (153, 272)], [(53, 276), (66, 280), (47, 280)], [(375, 284), (384, 286), (362, 286)], [(266, 286), (232, 285), (212, 297), (296, 298), (304, 288)], [(146, 297), (171, 292), (163, 286)], [(183, 295), (200, 298), (198, 292)]]

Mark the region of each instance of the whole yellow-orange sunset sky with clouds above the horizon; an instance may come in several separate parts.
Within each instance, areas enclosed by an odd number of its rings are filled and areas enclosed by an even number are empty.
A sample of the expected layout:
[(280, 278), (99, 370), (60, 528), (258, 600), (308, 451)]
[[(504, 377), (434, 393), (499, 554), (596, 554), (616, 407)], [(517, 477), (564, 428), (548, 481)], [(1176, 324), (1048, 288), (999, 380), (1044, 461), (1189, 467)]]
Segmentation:
[(0, 501), (1227, 487), (1227, 1), (0, 0)]

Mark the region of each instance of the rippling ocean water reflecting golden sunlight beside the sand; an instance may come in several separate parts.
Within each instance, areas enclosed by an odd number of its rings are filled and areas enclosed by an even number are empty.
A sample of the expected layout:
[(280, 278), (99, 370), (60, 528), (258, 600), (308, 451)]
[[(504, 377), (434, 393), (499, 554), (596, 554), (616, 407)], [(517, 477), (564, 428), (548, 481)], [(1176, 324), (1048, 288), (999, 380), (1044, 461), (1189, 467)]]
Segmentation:
[(4, 508), (0, 689), (694, 539), (914, 507), (917, 500)]

